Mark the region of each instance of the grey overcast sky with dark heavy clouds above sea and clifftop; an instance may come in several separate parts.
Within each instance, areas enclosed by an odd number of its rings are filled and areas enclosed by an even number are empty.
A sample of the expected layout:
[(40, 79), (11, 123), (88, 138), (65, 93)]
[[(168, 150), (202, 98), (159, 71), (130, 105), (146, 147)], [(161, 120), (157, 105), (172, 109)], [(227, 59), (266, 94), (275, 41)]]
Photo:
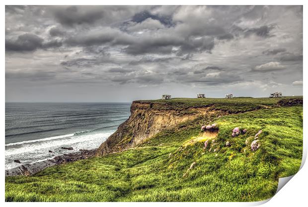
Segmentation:
[(302, 6), (5, 6), (5, 101), (303, 95)]

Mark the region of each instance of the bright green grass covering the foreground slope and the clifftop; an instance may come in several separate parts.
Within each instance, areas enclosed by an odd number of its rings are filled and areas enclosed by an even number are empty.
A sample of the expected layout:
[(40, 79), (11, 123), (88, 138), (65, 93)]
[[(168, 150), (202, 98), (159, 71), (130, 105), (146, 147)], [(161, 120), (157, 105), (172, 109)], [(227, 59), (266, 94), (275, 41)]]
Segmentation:
[[(199, 116), (160, 132), (135, 149), (50, 167), (31, 177), (6, 177), (5, 200), (244, 202), (268, 199), (276, 192), (279, 177), (295, 174), (302, 161), (303, 106), (272, 107), (277, 101), (249, 98), (153, 101), (177, 107), (214, 103), (213, 107), (228, 110), (267, 107), (221, 117)], [(219, 126), (219, 133), (217, 137), (207, 137), (200, 127), (214, 122)], [(234, 127), (246, 128), (247, 132), (232, 137)], [(260, 129), (260, 147), (252, 151), (250, 143)], [(206, 140), (209, 144), (204, 148)], [(226, 146), (227, 141), (231, 146)]]

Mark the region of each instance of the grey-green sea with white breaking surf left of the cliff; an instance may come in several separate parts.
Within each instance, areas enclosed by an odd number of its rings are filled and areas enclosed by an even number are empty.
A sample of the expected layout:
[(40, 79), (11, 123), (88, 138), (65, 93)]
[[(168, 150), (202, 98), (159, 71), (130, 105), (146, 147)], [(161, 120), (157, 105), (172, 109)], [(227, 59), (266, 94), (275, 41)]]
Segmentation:
[(129, 117), (130, 105), (5, 103), (5, 169), (20, 165), (14, 160), (34, 163), (99, 147)]

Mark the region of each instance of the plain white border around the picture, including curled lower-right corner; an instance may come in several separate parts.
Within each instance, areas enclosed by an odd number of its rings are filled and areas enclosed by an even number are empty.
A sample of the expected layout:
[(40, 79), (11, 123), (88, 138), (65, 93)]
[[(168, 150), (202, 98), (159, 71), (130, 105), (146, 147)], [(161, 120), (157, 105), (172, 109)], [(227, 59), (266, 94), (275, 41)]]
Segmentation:
[[(127, 4), (132, 4), (132, 5), (177, 5), (177, 4), (183, 4), (183, 5), (198, 5), (198, 4), (207, 4), (207, 5), (230, 5), (230, 4), (234, 4), (234, 5), (243, 5), (243, 4), (257, 4), (257, 5), (304, 5), (304, 22), (306, 22), (306, 6), (305, 2), (308, 1), (304, 1), (304, 0), (292, 0), (292, 1), (287, 1), (287, 0), (250, 0), (250, 1), (244, 1), (244, 0), (232, 0), (232, 1), (228, 1), (228, 0), (208, 0), (208, 1), (202, 1), (202, 0), (189, 0), (189, 1), (183, 1), (183, 0), (155, 0), (155, 1), (144, 1), (144, 0), (130, 0), (130, 1), (124, 1), (124, 0), (112, 0), (112, 1), (100, 1), (100, 0), (87, 0), (87, 1), (81, 1), (81, 0), (66, 0), (61, 1), (61, 0), (4, 0), (3, 1), (4, 4), (2, 5), (1, 9), (1, 13), (2, 13), (2, 21), (1, 21), (1, 28), (4, 28), (4, 24), (5, 24), (5, 4), (8, 5), (23, 5), (23, 4), (32, 4), (32, 5), (40, 5), (40, 4), (45, 4), (45, 5), (50, 5), (50, 4), (55, 4), (55, 5), (98, 5), (98, 4), (105, 4), (105, 5), (127, 5)], [(305, 26), (305, 24), (303, 25), (303, 31), (304, 34), (307, 34), (307, 26)], [(1, 114), (2, 117), (0, 119), (1, 121), (1, 134), (2, 134), (2, 146), (4, 148), (4, 134), (5, 134), (5, 129), (4, 129), (4, 123), (5, 123), (5, 45), (4, 45), (4, 39), (5, 39), (5, 34), (2, 30), (1, 33), (2, 37), (1, 37), (1, 57), (2, 57), (2, 68), (3, 71), (1, 73), (1, 84), (0, 84), (0, 90), (1, 90)], [(305, 39), (305, 35), (304, 35), (304, 39)], [(306, 42), (304, 40), (304, 63), (303, 63), (303, 68), (306, 68), (306, 64), (305, 64), (305, 51), (306, 51)], [(303, 81), (306, 83), (307, 81), (307, 70), (305, 69), (304, 74), (303, 74)], [(307, 94), (307, 87), (305, 88), (305, 83), (303, 85), (303, 95), (304, 95), (304, 99), (305, 97), (308, 95)], [(304, 108), (305, 108), (305, 100), (304, 100)], [(305, 108), (306, 109), (306, 108)], [(304, 109), (304, 126), (308, 126), (308, 122), (307, 122), (307, 110)], [(206, 206), (223, 206), (223, 207), (242, 207), (242, 206), (256, 206), (256, 205), (260, 205), (263, 204), (263, 206), (267, 206), (267, 207), (272, 207), (272, 206), (304, 206), (307, 205), (307, 189), (308, 189), (308, 179), (307, 179), (307, 174), (308, 174), (308, 167), (307, 164), (304, 165), (305, 160), (307, 158), (307, 128), (304, 127), (304, 153), (303, 153), (303, 161), (302, 161), (302, 168), (301, 170), (294, 175), (294, 177), (292, 178), (291, 182), (287, 183), (285, 187), (283, 187), (272, 199), (270, 200), (266, 200), (263, 202), (252, 202), (252, 203), (227, 203), (227, 202), (223, 202), (223, 203), (57, 203), (57, 207), (67, 207), (70, 205), (74, 205), (75, 207), (84, 207), (86, 206), (99, 206), (101, 207), (102, 205), (104, 206), (111, 206), (111, 207), (115, 207), (115, 206), (139, 206), (139, 207), (143, 207), (144, 205), (150, 206), (150, 207), (154, 207), (156, 205), (159, 206), (177, 206), (177, 207), (187, 207), (187, 205), (194, 205), (196, 207), (203, 207), (204, 205)], [(2, 149), (3, 149), (2, 148)], [(3, 172), (2, 174), (2, 179), (1, 179), (1, 201), (5, 206), (19, 206), (22, 205), (23, 207), (40, 207), (42, 205), (46, 206), (46, 207), (53, 207), (55, 204), (54, 203), (4, 203), (4, 149), (1, 150), (1, 170)]]

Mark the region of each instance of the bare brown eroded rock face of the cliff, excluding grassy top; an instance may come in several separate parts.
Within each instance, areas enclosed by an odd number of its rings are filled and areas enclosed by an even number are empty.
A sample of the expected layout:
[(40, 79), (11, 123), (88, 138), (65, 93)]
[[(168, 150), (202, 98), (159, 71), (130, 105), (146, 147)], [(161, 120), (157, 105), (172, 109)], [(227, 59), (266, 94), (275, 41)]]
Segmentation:
[(199, 115), (214, 113), (209, 107), (176, 108), (166, 103), (135, 101), (130, 117), (96, 151), (96, 156), (134, 147), (161, 130)]

